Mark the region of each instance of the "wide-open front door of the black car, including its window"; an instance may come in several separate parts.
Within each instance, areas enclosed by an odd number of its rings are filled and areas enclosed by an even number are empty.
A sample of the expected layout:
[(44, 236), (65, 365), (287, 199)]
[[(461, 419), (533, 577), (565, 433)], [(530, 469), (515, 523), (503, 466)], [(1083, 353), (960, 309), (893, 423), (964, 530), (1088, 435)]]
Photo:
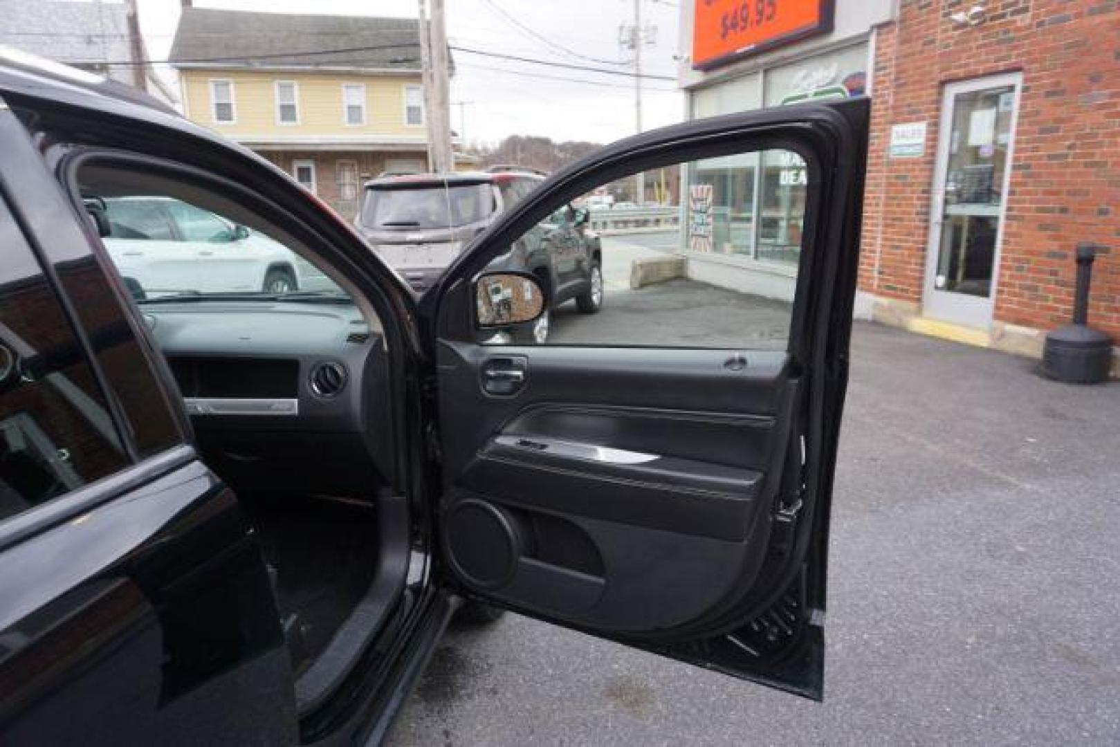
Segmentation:
[[(548, 179), (450, 268), (421, 301), (446, 585), (821, 698), (868, 104), (620, 141)], [(480, 328), (494, 302), (514, 320), (534, 292), (521, 277), (503, 297), (488, 274), (521, 236), (638, 172), (666, 207), (643, 225), (592, 218), (601, 311), (556, 305), (545, 344)], [(634, 262), (636, 279), (679, 274), (681, 254), (687, 278), (627, 287)], [(737, 289), (703, 283), (712, 272)]]

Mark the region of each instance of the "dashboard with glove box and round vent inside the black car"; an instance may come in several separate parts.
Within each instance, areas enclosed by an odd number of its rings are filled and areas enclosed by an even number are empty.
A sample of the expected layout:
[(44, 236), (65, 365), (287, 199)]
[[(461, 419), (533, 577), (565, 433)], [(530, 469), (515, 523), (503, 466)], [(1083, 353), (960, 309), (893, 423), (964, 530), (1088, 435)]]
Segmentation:
[(368, 493), (392, 480), (383, 336), (348, 301), (141, 305), (203, 458), (239, 491)]

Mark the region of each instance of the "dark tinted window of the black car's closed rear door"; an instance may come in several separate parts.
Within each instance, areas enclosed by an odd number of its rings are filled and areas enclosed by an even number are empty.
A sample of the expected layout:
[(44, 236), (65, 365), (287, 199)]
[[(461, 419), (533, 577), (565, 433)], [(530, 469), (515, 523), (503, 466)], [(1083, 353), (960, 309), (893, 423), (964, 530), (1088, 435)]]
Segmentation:
[(58, 299), (0, 205), (0, 521), (128, 464)]

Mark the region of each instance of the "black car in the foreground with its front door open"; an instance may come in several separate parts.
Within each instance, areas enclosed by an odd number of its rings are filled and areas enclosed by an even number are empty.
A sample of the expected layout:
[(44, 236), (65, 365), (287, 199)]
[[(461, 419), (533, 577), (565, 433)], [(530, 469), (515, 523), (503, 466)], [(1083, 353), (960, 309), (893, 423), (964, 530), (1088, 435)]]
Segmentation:
[[(868, 111), (608, 146), (526, 181), (418, 298), (263, 158), (0, 53), (0, 744), (376, 743), (487, 605), (820, 698)], [(774, 142), (814, 175), (787, 349), (478, 342), (548, 308), (544, 279), (488, 268), (578, 224), (576, 196)], [(90, 207), (118, 197), (338, 284), (133, 299)]]

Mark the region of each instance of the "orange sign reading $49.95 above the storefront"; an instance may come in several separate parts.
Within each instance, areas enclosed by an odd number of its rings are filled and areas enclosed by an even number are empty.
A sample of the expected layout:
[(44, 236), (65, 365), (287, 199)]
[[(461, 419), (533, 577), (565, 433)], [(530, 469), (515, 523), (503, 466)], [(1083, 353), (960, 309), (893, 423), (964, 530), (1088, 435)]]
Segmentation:
[(832, 0), (696, 0), (692, 67), (709, 69), (831, 30)]

